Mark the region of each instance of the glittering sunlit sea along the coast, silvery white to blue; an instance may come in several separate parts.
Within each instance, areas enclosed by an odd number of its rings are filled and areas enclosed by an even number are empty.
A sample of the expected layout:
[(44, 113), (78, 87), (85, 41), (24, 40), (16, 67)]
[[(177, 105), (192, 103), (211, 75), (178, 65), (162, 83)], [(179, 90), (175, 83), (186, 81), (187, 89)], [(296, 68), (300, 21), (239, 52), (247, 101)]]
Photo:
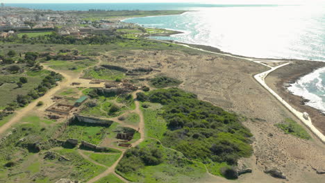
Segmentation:
[[(40, 10), (188, 10), (181, 15), (135, 17), (126, 22), (183, 33), (151, 37), (213, 46), (236, 55), (325, 62), (325, 4), (226, 5), (199, 3), (8, 4)], [(325, 68), (288, 87), (325, 113)]]

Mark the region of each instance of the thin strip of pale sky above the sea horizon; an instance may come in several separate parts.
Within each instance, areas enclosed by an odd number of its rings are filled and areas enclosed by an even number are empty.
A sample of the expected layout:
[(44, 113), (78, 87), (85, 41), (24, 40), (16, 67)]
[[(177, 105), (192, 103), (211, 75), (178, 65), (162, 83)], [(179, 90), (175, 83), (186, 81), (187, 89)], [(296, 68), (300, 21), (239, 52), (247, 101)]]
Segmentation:
[(310, 4), (324, 0), (0, 0), (3, 3), (219, 3), (219, 4)]

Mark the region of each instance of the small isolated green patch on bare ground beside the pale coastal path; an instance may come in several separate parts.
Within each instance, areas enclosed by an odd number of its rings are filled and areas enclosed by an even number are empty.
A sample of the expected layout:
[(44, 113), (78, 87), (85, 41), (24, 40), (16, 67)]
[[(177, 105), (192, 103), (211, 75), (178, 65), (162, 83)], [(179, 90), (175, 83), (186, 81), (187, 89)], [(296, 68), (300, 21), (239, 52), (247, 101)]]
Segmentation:
[(285, 134), (292, 134), (301, 139), (311, 139), (308, 132), (292, 119), (285, 119), (283, 123), (275, 124), (275, 126), (283, 130)]

